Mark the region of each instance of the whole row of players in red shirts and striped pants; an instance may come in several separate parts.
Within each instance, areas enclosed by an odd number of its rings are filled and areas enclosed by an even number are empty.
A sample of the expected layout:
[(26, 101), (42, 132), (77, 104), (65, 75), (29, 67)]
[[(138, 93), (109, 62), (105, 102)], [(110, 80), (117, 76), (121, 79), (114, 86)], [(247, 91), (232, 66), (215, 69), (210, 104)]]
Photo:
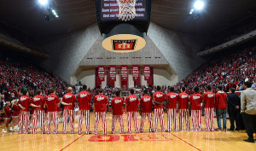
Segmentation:
[[(34, 108), (32, 116), (32, 133), (37, 133), (38, 124), (41, 128), (41, 133), (49, 134), (50, 125), (53, 123), (54, 134), (58, 134), (58, 111), (60, 104), (64, 106), (63, 111), (63, 134), (67, 133), (67, 120), (70, 117), (70, 132), (72, 134), (74, 131), (74, 107), (75, 104), (79, 104), (79, 134), (82, 134), (83, 119), (85, 119), (85, 134), (90, 134), (90, 102), (92, 100), (90, 93), (86, 91), (87, 87), (83, 86), (83, 91), (79, 93), (78, 98), (73, 95), (73, 89), (71, 87), (67, 88), (68, 93), (63, 96), (62, 102), (58, 96), (55, 95), (55, 90), (51, 90), (49, 96), (42, 95), (41, 90), (38, 90), (37, 96), (31, 98), (28, 96), (28, 91), (23, 91), (23, 96), (20, 97), (17, 107), (20, 107), (20, 121), (19, 121), (19, 133), (29, 133), (29, 119), (30, 119), (30, 107)], [(131, 95), (125, 98), (119, 96), (119, 91), (116, 91), (116, 97), (113, 98), (111, 102), (111, 107), (113, 108), (113, 119), (112, 119), (112, 134), (116, 133), (116, 123), (119, 120), (120, 133), (125, 133), (124, 121), (123, 121), (123, 107), (125, 104), (127, 112), (127, 132), (131, 133), (132, 120), (134, 122), (135, 132), (143, 132), (145, 119), (148, 118), (149, 122), (149, 132), (157, 132), (158, 121), (160, 120), (161, 131), (170, 132), (172, 128), (174, 131), (183, 131), (183, 123), (186, 125), (186, 131), (190, 131), (189, 128), (189, 104), (191, 107), (191, 117), (192, 117), (192, 131), (202, 131), (201, 128), (201, 102), (202, 107), (205, 109), (205, 123), (206, 131), (214, 131), (214, 110), (217, 111), (218, 119), (218, 131), (226, 131), (226, 124), (223, 123), (223, 129), (220, 125), (220, 113), (218, 110), (226, 109), (226, 98), (227, 95), (221, 90), (221, 87), (217, 88), (218, 92), (214, 95), (211, 91), (211, 87), (207, 86), (207, 91), (202, 96), (198, 93), (198, 87), (195, 87), (195, 93), (189, 96), (185, 93), (185, 88), (181, 89), (180, 94), (174, 93), (174, 89), (170, 88), (170, 93), (165, 95), (160, 91), (160, 86), (157, 86), (157, 91), (154, 93), (153, 98), (148, 95), (148, 90), (144, 90), (144, 96), (140, 99), (134, 94), (134, 90), (131, 89)], [(102, 94), (102, 90), (99, 90), (99, 95), (95, 96), (93, 100), (93, 108), (95, 114), (95, 127), (94, 134), (97, 134), (98, 124), (100, 119), (102, 119), (103, 134), (107, 135), (107, 120), (106, 112), (108, 106), (108, 98)], [(152, 106), (154, 106), (154, 111), (152, 111)], [(44, 113), (46, 109), (46, 113)], [(167, 113), (167, 129), (165, 127), (164, 120), (164, 108)], [(11, 114), (9, 113), (9, 108), (5, 108), (6, 117), (9, 119)], [(138, 112), (139, 111), (139, 112)], [(153, 115), (154, 112), (154, 124)], [(139, 127), (138, 123), (138, 113), (141, 114), (141, 125)], [(46, 130), (44, 129), (44, 116), (46, 116)], [(13, 113), (13, 118), (17, 118), (17, 113)], [(177, 125), (177, 118), (179, 120)], [(225, 116), (223, 115), (223, 118)], [(23, 130), (24, 129), (24, 130)], [(12, 130), (12, 128), (10, 129)], [(4, 132), (4, 130), (3, 130)]]

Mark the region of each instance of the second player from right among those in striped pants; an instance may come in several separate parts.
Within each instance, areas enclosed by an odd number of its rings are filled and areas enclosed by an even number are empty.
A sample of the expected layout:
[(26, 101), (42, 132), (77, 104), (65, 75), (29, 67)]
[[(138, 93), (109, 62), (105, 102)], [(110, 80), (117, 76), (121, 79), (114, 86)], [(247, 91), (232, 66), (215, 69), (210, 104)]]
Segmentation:
[(189, 102), (191, 103), (193, 131), (201, 131), (201, 100), (201, 94), (199, 93), (194, 93), (193, 95), (189, 96)]

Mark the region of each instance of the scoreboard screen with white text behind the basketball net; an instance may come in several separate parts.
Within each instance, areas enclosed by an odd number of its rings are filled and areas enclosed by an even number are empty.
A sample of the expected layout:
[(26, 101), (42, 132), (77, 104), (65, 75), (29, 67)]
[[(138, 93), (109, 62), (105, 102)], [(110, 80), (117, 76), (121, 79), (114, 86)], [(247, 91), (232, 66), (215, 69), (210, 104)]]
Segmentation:
[[(147, 0), (137, 0), (135, 9), (136, 17), (133, 20), (148, 18)], [(116, 0), (101, 0), (101, 20), (119, 20), (119, 4)]]

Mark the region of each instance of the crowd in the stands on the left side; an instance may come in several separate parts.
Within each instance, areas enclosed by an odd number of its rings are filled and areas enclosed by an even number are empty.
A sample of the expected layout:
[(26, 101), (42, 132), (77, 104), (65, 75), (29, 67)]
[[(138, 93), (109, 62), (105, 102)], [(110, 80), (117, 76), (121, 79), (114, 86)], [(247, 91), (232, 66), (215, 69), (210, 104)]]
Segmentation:
[(4, 95), (5, 101), (19, 98), (23, 89), (29, 90), (30, 96), (35, 96), (38, 89), (43, 91), (43, 96), (47, 96), (51, 89), (56, 90), (57, 96), (63, 96), (70, 86), (61, 78), (54, 77), (39, 67), (15, 61), (1, 54), (0, 71), (0, 94)]

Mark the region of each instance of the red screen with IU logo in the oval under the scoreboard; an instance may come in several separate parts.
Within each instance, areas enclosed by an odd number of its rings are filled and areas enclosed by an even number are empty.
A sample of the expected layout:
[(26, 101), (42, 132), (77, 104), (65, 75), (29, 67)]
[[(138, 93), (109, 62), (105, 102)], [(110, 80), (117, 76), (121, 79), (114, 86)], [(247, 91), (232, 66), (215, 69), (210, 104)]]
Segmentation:
[(112, 40), (112, 44), (113, 44), (113, 50), (135, 49), (137, 44), (137, 39)]

